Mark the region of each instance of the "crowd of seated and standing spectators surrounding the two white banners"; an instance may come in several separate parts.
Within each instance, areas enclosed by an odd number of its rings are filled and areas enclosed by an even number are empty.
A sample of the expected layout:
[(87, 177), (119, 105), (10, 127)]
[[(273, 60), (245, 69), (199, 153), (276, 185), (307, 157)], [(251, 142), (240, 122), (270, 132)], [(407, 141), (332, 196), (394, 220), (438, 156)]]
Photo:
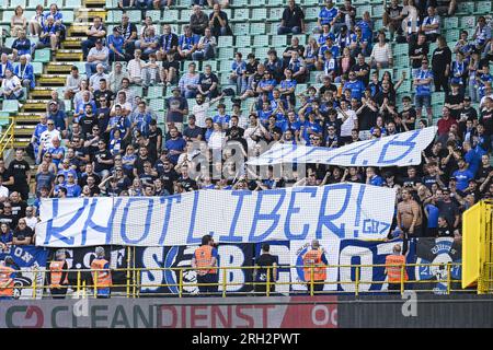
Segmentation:
[[(129, 2), (122, 5), (172, 7), (171, 1)], [(36, 210), (39, 199), (48, 197), (168, 196), (202, 189), (265, 190), (355, 182), (398, 189), (394, 232), (459, 234), (460, 213), (493, 197), (493, 78), (489, 68), (493, 40), (490, 24), (479, 16), (473, 35), (461, 32), (456, 43), (447, 43), (440, 21), (454, 13), (456, 4), (446, 2), (444, 7), (443, 1), (404, 0), (401, 5), (391, 0), (385, 26), (375, 28), (368, 12), (356, 16), (351, 0), (340, 8), (325, 0), (318, 26), (307, 33), (302, 7), (289, 0), (278, 33), (310, 34), (309, 44), (303, 47), (293, 36), (283, 52), (271, 49), (267, 57), (249, 54), (245, 59), (236, 52), (229, 75), (234, 89), (225, 90), (210, 65), (197, 71), (198, 60), (216, 57), (218, 37), (234, 34), (219, 4), (208, 3), (214, 9), (208, 18), (200, 7), (205, 3), (195, 4), (181, 35), (169, 23), (157, 35), (150, 18), (137, 33), (125, 12), (112, 33), (95, 19), (82, 44), (85, 75), (74, 66), (67, 77), (64, 97), (72, 101), (73, 117), (69, 118), (64, 101), (54, 92), (27, 149), (38, 165), (34, 188), (28, 187), (30, 166), (23, 150), (16, 151), (8, 168), (0, 162), (2, 232), (25, 230), (19, 226), (23, 218), (32, 222), (25, 209), (15, 214), (9, 209), (19, 200), (25, 205), (30, 192)], [(53, 7), (42, 18), (41, 31), (34, 19), (28, 26), (39, 37), (49, 33), (43, 45), (55, 48), (62, 33), (46, 28), (62, 25)], [(392, 40), (408, 43), (411, 77), (403, 73), (395, 80), (386, 70), (394, 67)], [(25, 55), (18, 51), (21, 62)], [(3, 82), (11, 79), (9, 65), (7, 54), (2, 55), (2, 91)], [(297, 84), (307, 82), (310, 74), (320, 84), (296, 93)], [(18, 78), (20, 82), (5, 85), (27, 86), (34, 81)], [(406, 81), (412, 91), (397, 101)], [(133, 85), (144, 91), (162, 85), (172, 91), (165, 100), (165, 132)], [(293, 177), (274, 168), (261, 175), (245, 166), (249, 156), (278, 142), (334, 149), (424, 128), (438, 119), (432, 115), (431, 101), (432, 93), (440, 91), (446, 97), (438, 135), (419, 166), (380, 170), (308, 164), (306, 174), (295, 172)], [(227, 110), (223, 98), (231, 95), (232, 110)], [(195, 98), (194, 106), (188, 107), (187, 98)], [(477, 103), (479, 108), (472, 105)], [(427, 119), (422, 118), (423, 107)]]

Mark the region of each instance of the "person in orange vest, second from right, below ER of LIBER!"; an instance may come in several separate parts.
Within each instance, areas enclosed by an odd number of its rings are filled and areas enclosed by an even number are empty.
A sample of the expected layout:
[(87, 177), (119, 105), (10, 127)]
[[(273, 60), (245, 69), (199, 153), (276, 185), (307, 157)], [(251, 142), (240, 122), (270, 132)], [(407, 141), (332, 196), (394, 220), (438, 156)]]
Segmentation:
[(320, 247), (319, 240), (311, 241), (311, 249), (305, 253), (302, 259), (305, 282), (307, 282), (308, 291), (310, 294), (312, 288), (313, 292), (323, 291), (323, 283), (326, 279), (326, 265), (329, 262), (324, 249)]

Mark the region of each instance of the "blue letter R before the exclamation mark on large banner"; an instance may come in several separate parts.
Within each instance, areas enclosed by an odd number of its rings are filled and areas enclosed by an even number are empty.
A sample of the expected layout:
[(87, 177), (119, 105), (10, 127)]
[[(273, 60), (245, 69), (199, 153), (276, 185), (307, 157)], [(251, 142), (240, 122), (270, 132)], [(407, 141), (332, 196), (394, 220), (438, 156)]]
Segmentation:
[[(340, 190), (340, 189), (345, 190), (344, 203), (342, 205), (341, 209), (336, 213), (326, 215), (325, 209), (326, 209), (329, 192)], [(323, 226), (326, 226), (330, 231), (332, 231), (334, 234), (336, 234), (340, 238), (344, 237), (345, 224), (341, 223), (341, 226), (337, 228), (333, 223), (333, 221), (341, 218), (343, 215), (343, 213), (346, 211), (347, 205), (349, 203), (352, 189), (353, 189), (352, 184), (339, 184), (339, 185), (328, 186), (324, 188), (322, 203), (320, 206), (319, 222), (317, 224), (317, 232), (316, 232), (317, 238), (319, 238), (319, 240), (322, 238)]]

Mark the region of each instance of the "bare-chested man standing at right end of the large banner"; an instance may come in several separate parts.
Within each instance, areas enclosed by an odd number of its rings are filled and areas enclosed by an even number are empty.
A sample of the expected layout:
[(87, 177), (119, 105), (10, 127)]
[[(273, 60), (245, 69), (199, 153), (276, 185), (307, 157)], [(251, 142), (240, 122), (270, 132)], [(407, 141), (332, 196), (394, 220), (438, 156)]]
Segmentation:
[(398, 205), (397, 221), (404, 233), (414, 237), (421, 236), (423, 222), (421, 208), (406, 188), (402, 190), (402, 201)]

